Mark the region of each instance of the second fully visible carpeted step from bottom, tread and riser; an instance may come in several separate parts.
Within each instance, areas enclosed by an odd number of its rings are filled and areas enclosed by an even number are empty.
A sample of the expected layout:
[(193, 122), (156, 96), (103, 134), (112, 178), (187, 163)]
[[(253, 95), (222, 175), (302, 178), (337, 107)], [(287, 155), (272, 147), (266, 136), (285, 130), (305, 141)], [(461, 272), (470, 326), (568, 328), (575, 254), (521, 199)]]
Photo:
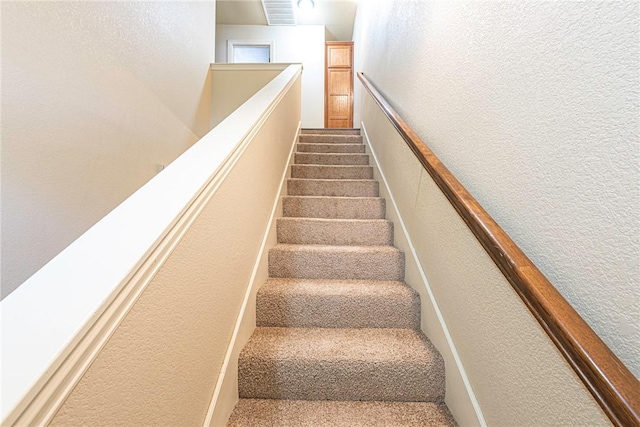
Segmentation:
[(399, 281), (269, 279), (256, 324), (317, 328), (420, 328), (420, 297)]

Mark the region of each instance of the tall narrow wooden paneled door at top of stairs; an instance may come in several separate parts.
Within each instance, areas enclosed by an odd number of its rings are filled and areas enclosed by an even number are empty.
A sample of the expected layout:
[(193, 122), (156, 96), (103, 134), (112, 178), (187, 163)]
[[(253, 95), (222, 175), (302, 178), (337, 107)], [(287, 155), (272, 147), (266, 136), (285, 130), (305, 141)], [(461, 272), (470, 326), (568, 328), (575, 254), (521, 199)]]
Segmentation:
[(324, 127), (353, 127), (353, 42), (326, 42)]

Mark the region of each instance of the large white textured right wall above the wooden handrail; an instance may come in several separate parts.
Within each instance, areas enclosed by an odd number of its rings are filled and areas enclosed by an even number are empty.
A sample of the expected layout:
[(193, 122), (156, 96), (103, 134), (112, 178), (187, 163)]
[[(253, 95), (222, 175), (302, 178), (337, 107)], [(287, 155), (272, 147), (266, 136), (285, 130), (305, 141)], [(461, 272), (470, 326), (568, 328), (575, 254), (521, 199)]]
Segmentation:
[(357, 15), (356, 70), (640, 377), (640, 3)]

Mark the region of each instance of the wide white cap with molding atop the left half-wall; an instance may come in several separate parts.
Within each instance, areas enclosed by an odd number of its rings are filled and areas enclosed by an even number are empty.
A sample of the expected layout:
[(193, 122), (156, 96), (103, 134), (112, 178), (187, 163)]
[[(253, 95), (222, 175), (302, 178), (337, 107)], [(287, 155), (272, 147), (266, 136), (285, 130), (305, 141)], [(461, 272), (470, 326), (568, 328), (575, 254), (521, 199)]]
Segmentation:
[(300, 73), (280, 73), (0, 303), (3, 426), (51, 420)]

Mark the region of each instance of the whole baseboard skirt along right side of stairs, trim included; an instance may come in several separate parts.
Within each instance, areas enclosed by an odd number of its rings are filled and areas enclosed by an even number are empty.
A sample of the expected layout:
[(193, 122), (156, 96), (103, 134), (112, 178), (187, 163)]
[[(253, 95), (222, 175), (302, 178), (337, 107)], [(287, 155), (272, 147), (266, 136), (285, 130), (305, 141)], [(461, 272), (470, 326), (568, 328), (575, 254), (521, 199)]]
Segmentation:
[[(429, 285), (424, 269), (422, 268), (416, 249), (411, 241), (411, 236), (409, 236), (402, 215), (398, 209), (398, 205), (393, 198), (393, 193), (389, 188), (384, 172), (380, 168), (380, 163), (371, 146), (364, 122), (361, 122), (360, 128), (364, 144), (373, 158), (373, 168), (376, 178), (383, 184), (380, 187), (381, 195), (390, 202), (387, 203), (387, 218), (396, 224), (396, 227), (394, 227), (395, 245), (406, 254), (405, 268), (407, 270), (407, 276), (420, 278), (420, 283), (410, 283), (408, 280), (407, 284), (420, 293), (422, 324), (425, 325), (426, 321), (426, 323), (430, 325), (429, 331), (425, 330), (426, 328), (424, 326), (423, 331), (440, 351), (445, 360), (447, 378), (445, 402), (461, 426), (486, 427), (487, 424), (482, 415), (482, 410), (471, 388), (471, 383), (469, 382), (456, 346), (447, 329), (444, 317)], [(417, 274), (409, 274), (411, 270)], [(427, 298), (425, 298), (425, 296)]]

